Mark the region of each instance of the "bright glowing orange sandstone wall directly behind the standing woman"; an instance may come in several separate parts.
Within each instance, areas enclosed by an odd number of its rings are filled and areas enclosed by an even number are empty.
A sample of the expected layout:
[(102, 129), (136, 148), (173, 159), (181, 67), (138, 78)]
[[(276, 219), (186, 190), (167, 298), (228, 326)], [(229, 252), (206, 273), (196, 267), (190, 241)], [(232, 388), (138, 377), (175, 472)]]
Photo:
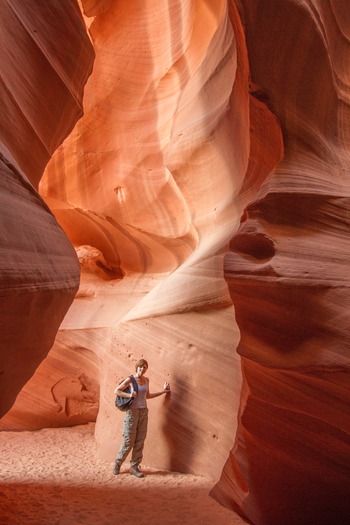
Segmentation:
[(76, 248), (81, 285), (3, 428), (94, 419), (100, 387), (96, 437), (112, 460), (123, 419), (113, 390), (143, 356), (151, 390), (172, 385), (167, 399), (150, 401), (145, 462), (217, 479), (241, 391), (223, 256), (282, 155), (279, 127), (249, 96), (233, 5), (81, 7), (96, 53), (84, 116), (40, 185)]

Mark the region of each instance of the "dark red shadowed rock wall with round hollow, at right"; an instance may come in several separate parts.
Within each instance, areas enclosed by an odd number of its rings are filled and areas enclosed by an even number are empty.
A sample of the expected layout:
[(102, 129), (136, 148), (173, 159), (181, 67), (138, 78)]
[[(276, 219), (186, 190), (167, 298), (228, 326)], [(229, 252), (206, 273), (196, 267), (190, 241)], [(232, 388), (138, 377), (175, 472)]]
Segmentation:
[(285, 155), (225, 258), (241, 330), (235, 446), (215, 497), (257, 525), (350, 516), (350, 11), (244, 0), (252, 80)]

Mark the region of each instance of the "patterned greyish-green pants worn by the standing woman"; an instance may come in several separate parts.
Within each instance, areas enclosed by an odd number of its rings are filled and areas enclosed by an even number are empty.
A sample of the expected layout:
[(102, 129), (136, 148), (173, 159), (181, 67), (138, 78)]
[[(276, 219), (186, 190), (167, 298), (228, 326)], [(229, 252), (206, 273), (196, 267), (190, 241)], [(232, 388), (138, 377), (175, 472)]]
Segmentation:
[(126, 412), (124, 417), (123, 438), (116, 464), (121, 465), (132, 449), (131, 467), (141, 463), (143, 446), (147, 435), (148, 408), (135, 408)]

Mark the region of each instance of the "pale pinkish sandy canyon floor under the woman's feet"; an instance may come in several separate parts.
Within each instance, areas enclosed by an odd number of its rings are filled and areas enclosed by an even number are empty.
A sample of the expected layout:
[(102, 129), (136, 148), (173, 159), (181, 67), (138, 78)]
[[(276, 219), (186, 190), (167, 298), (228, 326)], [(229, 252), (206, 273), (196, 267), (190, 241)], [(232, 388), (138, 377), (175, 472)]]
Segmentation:
[(0, 432), (1, 525), (243, 525), (200, 476), (143, 468), (137, 479), (96, 454), (94, 425)]

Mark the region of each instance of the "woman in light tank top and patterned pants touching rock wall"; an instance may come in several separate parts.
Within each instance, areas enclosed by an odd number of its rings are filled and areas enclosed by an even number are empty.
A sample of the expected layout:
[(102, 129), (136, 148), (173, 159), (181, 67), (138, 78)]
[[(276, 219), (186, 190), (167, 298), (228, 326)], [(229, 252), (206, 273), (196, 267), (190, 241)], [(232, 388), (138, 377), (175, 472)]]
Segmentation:
[(130, 461), (130, 474), (137, 478), (143, 478), (139, 465), (142, 460), (143, 447), (147, 435), (148, 423), (148, 408), (147, 399), (161, 396), (170, 392), (169, 383), (164, 383), (164, 388), (161, 392), (153, 394), (149, 391), (149, 380), (145, 376), (148, 363), (145, 359), (140, 359), (135, 366), (136, 375), (134, 376), (138, 386), (138, 392), (132, 390), (131, 394), (124, 392), (124, 390), (132, 384), (130, 377), (127, 377), (117, 386), (114, 393), (120, 397), (131, 398), (134, 397), (131, 408), (126, 412), (123, 426), (123, 443), (119, 449), (118, 455), (114, 464), (114, 474), (119, 474), (120, 467), (125, 461), (127, 455), (132, 449)]

